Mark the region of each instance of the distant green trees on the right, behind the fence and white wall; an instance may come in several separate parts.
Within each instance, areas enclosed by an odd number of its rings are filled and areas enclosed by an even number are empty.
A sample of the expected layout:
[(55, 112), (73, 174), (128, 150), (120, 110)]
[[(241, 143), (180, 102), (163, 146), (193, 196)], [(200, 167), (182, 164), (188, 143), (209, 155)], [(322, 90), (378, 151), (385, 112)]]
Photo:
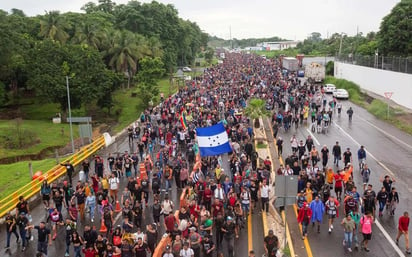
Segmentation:
[[(246, 40), (211, 38), (211, 42), (216, 46), (233, 48), (284, 40), (278, 37)], [(315, 56), (337, 56), (340, 53), (348, 56), (349, 54), (375, 55), (375, 51), (384, 56), (412, 56), (412, 0), (402, 0), (394, 6), (391, 12), (383, 17), (378, 32), (369, 32), (366, 35), (357, 33), (354, 36), (333, 33), (326, 38), (322, 37), (319, 32), (312, 32), (295, 49), (286, 49), (279, 54), (293, 56), (301, 53)]]

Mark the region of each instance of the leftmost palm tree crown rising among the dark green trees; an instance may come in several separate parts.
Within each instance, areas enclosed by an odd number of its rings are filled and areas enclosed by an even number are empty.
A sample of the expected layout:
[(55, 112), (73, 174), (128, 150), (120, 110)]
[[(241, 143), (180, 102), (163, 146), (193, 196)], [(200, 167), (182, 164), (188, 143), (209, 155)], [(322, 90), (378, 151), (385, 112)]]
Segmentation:
[(43, 38), (65, 43), (69, 38), (66, 32), (69, 28), (69, 24), (65, 22), (59, 11), (50, 11), (41, 17), (39, 35)]

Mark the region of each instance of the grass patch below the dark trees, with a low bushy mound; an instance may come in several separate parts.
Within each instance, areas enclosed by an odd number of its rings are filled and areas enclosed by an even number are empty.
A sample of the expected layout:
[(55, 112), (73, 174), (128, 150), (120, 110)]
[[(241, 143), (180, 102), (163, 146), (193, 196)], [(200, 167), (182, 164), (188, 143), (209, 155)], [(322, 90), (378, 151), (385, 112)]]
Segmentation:
[[(16, 137), (19, 130), (30, 131), (30, 136), (34, 137), (33, 144), (25, 148), (5, 148), (5, 138)], [(78, 135), (78, 127), (76, 125), (73, 126), (73, 134), (75, 136)], [(43, 149), (64, 146), (69, 141), (70, 130), (69, 125), (66, 123), (53, 124), (51, 120), (22, 120), (20, 128), (18, 128), (15, 120), (0, 120), (0, 156), (3, 158), (38, 154)]]

